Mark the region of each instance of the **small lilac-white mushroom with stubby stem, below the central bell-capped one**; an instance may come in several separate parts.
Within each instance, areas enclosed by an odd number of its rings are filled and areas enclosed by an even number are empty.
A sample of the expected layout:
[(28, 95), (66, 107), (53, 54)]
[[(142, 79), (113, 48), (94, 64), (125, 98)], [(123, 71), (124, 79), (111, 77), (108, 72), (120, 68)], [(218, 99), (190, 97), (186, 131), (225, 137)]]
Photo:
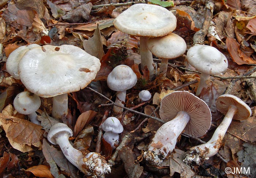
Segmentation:
[(102, 130), (105, 131), (103, 139), (108, 142), (112, 148), (116, 148), (118, 144), (119, 135), (122, 133), (124, 128), (123, 125), (116, 117), (108, 117), (101, 126)]

